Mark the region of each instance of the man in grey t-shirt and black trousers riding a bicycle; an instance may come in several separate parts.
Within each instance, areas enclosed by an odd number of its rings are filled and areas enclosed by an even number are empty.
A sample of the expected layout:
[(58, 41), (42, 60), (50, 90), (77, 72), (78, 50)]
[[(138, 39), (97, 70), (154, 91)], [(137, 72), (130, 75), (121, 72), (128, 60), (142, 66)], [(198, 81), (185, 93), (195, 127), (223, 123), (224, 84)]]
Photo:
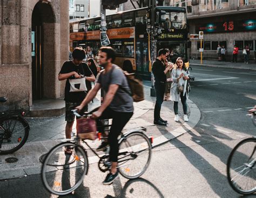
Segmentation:
[(109, 161), (112, 162), (110, 173), (103, 181), (104, 185), (111, 185), (118, 176), (118, 136), (133, 114), (133, 99), (131, 97), (129, 84), (123, 71), (117, 65), (112, 64), (116, 58), (116, 52), (112, 47), (101, 47), (99, 49), (99, 65), (105, 70), (100, 72), (95, 87), (86, 95), (82, 103), (76, 107), (82, 111), (90, 101), (95, 98), (100, 88), (106, 92), (102, 106), (92, 113), (93, 119), (113, 119), (107, 142), (102, 142), (97, 151), (110, 145)]

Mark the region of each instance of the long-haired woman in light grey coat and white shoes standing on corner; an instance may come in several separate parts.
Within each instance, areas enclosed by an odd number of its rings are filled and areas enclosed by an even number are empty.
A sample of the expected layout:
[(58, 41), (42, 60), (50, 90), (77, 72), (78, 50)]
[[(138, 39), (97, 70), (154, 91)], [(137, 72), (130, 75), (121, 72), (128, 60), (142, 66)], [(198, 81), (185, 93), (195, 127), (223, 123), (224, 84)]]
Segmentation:
[(174, 121), (179, 121), (179, 115), (178, 115), (178, 103), (179, 98), (181, 99), (181, 103), (183, 106), (183, 113), (184, 113), (184, 121), (188, 121), (187, 117), (187, 99), (188, 94), (186, 93), (183, 96), (183, 92), (180, 91), (179, 87), (184, 86), (185, 80), (189, 80), (190, 78), (185, 75), (186, 67), (184, 59), (181, 57), (178, 57), (176, 60), (176, 68), (172, 70), (172, 86), (171, 86), (171, 100), (174, 101), (173, 104), (173, 110), (175, 113)]

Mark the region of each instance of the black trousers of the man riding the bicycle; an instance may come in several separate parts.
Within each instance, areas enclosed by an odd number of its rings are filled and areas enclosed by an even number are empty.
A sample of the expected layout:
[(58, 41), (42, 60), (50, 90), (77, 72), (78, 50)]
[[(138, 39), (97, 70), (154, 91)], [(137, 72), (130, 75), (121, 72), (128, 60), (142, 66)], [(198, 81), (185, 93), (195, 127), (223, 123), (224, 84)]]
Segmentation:
[[(98, 108), (92, 110), (90, 113), (97, 111)], [(111, 110), (111, 108), (106, 108), (102, 115), (97, 119), (97, 126), (102, 126), (102, 122), (99, 120), (112, 119), (112, 126), (110, 128), (109, 137), (107, 138), (110, 145), (109, 158), (112, 162), (117, 162), (118, 136), (132, 115), (133, 112), (116, 112)], [(98, 127), (98, 131), (102, 131), (102, 127)]]

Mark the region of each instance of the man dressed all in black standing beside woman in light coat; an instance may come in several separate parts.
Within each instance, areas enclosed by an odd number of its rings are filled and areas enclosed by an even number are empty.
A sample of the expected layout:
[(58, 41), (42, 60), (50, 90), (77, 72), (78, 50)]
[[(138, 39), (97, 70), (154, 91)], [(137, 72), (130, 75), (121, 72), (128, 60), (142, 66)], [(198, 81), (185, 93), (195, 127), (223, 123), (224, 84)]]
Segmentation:
[(154, 124), (166, 126), (167, 121), (161, 119), (160, 111), (161, 105), (164, 101), (165, 93), (165, 83), (166, 83), (166, 73), (171, 70), (172, 66), (164, 66), (164, 62), (168, 56), (168, 51), (166, 49), (160, 49), (158, 51), (158, 57), (154, 60), (152, 65), (152, 72), (154, 74), (154, 88), (156, 90), (156, 105), (154, 106)]

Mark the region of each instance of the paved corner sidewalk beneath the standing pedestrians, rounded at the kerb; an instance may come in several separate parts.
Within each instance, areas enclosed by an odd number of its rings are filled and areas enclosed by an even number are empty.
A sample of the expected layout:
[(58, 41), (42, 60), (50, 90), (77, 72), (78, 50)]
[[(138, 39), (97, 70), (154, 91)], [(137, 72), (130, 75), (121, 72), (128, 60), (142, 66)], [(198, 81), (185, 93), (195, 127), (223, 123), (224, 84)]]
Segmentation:
[[(145, 83), (149, 84), (149, 82)], [(156, 126), (153, 124), (153, 109), (156, 98), (150, 97), (150, 86), (144, 86), (145, 100), (134, 104), (134, 114), (129, 123), (125, 126), (125, 130), (146, 127), (148, 136), (153, 136), (153, 146), (163, 144), (166, 141), (177, 138), (198, 123), (200, 119), (200, 111), (198, 107), (191, 101), (188, 101), (190, 111), (189, 122), (183, 121), (183, 114), (180, 113), (180, 121), (175, 122), (173, 113), (173, 102), (164, 101), (161, 108), (161, 117), (168, 120), (167, 126)], [(99, 95), (97, 97), (99, 99)], [(94, 103), (89, 104), (89, 109), (99, 106), (99, 100), (95, 99)], [(181, 103), (179, 103), (179, 111), (182, 111)], [(26, 118), (30, 124), (29, 139), (26, 144), (17, 152), (9, 155), (0, 155), (0, 180), (8, 180), (17, 177), (23, 177), (41, 173), (41, 162), (39, 157), (47, 153), (53, 146), (65, 139), (65, 117), (52, 118)], [(75, 127), (73, 128), (75, 132)], [(90, 142), (93, 148), (100, 145), (100, 141)], [(98, 163), (97, 156), (91, 152), (89, 155), (89, 163)], [(14, 157), (18, 161), (15, 163), (7, 163), (6, 158)]]

